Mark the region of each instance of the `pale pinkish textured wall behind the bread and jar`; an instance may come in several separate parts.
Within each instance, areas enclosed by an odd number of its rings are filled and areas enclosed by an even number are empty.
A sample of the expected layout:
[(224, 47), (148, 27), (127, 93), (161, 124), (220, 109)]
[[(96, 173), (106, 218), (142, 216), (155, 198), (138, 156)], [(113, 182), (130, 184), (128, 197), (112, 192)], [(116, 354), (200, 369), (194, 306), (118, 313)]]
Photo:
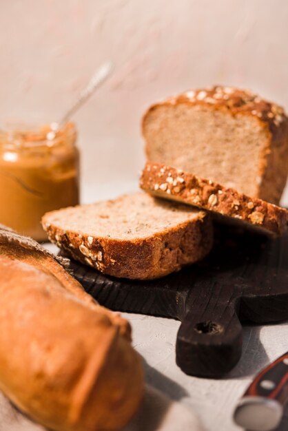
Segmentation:
[(0, 0), (0, 118), (61, 117), (112, 59), (75, 116), (84, 194), (136, 187), (140, 118), (158, 98), (224, 83), (288, 109), (287, 22), (286, 0)]

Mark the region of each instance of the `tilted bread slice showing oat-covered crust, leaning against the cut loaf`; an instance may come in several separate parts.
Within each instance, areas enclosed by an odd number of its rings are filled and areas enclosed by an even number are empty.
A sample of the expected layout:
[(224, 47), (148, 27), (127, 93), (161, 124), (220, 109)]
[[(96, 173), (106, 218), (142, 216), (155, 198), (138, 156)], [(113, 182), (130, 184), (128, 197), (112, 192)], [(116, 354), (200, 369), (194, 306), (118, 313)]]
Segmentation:
[(259, 232), (280, 235), (287, 228), (286, 209), (160, 163), (146, 163), (140, 187), (154, 196), (225, 215)]

